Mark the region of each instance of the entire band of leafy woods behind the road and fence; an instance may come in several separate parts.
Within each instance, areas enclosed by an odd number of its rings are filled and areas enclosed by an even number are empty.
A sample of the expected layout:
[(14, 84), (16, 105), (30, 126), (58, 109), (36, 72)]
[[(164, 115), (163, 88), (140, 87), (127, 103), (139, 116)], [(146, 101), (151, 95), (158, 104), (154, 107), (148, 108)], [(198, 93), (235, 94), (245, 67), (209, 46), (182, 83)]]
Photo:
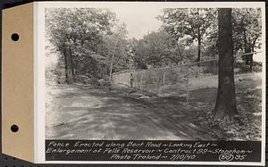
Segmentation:
[[(260, 14), (251, 8), (232, 11), (234, 54), (260, 48)], [(127, 25), (107, 9), (46, 9), (46, 37), (59, 52), (62, 68), (54, 72), (64, 75), (60, 82), (106, 79), (115, 71), (194, 63), (218, 54), (216, 9), (167, 8), (155, 17), (162, 28), (136, 39), (128, 38)], [(243, 56), (250, 71), (252, 57)]]

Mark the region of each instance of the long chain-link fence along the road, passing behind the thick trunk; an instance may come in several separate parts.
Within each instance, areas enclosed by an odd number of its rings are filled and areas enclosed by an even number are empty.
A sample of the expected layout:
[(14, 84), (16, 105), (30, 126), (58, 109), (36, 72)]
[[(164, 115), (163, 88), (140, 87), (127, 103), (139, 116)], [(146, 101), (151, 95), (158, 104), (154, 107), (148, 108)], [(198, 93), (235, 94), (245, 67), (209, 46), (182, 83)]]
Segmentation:
[[(235, 74), (250, 71), (250, 65), (245, 64), (242, 55), (247, 54), (235, 56)], [(121, 71), (113, 74), (113, 84), (127, 85), (157, 96), (179, 96), (188, 102), (191, 91), (218, 87), (218, 65), (218, 59), (215, 58), (159, 69)], [(260, 63), (254, 63), (254, 71), (261, 71), (261, 66)]]

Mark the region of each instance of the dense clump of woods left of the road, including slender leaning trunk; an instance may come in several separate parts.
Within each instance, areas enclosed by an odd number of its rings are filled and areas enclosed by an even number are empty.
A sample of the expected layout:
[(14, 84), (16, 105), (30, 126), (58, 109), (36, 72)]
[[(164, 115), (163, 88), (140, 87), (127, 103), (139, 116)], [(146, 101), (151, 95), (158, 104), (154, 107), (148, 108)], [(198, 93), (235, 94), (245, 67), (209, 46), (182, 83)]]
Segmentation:
[(127, 68), (126, 27), (116, 24), (114, 13), (93, 8), (47, 9), (46, 13), (46, 36), (59, 52), (64, 70), (56, 72), (64, 71), (65, 83), (103, 78), (114, 53), (115, 71)]

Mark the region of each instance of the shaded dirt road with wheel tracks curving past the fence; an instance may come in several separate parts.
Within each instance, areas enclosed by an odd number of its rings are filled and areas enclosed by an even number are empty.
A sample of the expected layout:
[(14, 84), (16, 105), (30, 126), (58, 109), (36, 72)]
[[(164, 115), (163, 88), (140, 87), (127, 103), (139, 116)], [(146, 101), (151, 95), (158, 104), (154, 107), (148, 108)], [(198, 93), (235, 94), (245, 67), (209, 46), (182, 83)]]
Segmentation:
[(46, 139), (214, 139), (202, 107), (167, 98), (135, 99), (86, 86), (48, 87)]

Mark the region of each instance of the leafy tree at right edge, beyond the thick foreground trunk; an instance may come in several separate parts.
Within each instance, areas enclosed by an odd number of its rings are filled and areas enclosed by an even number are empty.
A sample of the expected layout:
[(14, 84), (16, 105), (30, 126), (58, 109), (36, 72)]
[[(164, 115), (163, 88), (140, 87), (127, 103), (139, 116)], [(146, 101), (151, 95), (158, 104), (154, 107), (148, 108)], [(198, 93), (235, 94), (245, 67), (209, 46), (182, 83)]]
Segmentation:
[[(238, 8), (233, 10), (232, 26), (235, 52), (254, 53), (262, 37), (261, 9), (259, 8)], [(243, 57), (245, 63), (253, 67), (253, 54)]]

